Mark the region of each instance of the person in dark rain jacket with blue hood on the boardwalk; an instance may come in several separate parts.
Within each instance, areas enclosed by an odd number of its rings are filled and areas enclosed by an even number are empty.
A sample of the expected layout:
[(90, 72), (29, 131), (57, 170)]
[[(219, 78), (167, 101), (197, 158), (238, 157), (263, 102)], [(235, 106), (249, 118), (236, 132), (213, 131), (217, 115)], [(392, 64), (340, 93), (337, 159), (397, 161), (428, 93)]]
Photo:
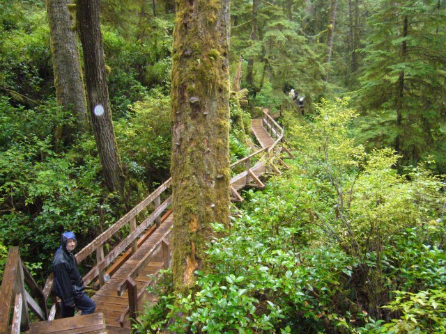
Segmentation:
[(96, 304), (86, 295), (84, 281), (77, 269), (77, 262), (72, 251), (77, 241), (73, 232), (64, 232), (61, 236), (61, 247), (54, 253), (54, 292), (61, 299), (62, 317), (75, 315), (75, 307), (82, 315), (95, 312)]

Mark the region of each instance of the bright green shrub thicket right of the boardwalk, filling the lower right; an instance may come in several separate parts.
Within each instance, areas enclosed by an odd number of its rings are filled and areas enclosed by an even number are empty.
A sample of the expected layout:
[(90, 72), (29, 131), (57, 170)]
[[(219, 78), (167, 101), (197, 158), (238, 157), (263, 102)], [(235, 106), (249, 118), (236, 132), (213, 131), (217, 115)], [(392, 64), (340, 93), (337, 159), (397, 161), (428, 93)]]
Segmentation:
[(401, 177), (391, 150), (353, 145), (354, 117), (346, 100), (323, 101), (311, 122), (286, 117), (298, 150), (291, 169), (245, 193), (244, 215), (229, 230), (215, 225), (210, 272), (197, 273), (187, 295), (162, 295), (139, 330), (387, 333), (413, 319), (443, 326), (444, 184), (423, 166)]

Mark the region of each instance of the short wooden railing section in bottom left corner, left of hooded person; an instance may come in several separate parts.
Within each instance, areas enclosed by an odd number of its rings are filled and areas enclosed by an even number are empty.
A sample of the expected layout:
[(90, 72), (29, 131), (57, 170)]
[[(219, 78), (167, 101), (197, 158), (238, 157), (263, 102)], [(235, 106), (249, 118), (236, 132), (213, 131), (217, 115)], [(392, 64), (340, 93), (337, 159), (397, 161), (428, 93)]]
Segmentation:
[[(26, 290), (28, 287), (34, 299)], [(29, 310), (40, 320), (47, 320), (48, 295), (38, 287), (20, 258), (17, 246), (9, 248), (0, 289), (0, 333), (20, 333), (29, 329)], [(10, 310), (13, 320), (10, 323)]]

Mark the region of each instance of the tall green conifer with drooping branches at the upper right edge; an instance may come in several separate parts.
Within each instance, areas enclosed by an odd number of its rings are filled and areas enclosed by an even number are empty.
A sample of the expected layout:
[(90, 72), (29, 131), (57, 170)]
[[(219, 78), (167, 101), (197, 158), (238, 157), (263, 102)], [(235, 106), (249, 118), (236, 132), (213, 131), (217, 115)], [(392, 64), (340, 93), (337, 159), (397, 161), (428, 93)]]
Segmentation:
[[(432, 155), (445, 170), (445, 19), (440, 1), (376, 1), (357, 104), (362, 142), (399, 150), (403, 164)], [(406, 23), (405, 23), (406, 22)]]

